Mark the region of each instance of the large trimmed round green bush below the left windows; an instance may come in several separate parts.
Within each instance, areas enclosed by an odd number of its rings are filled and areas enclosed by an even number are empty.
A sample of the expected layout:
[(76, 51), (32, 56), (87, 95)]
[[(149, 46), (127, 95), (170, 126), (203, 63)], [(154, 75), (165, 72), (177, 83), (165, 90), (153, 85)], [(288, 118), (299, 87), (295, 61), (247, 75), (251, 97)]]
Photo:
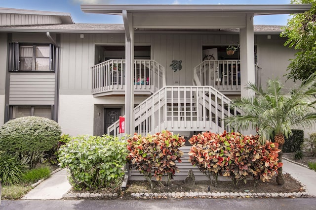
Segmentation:
[[(20, 157), (30, 157), (30, 167), (35, 167), (33, 157), (52, 149), (61, 135), (54, 120), (40, 117), (23, 117), (6, 122), (0, 128), (0, 150)], [(36, 159), (36, 158), (35, 158)], [(34, 164), (35, 163), (35, 164)]]

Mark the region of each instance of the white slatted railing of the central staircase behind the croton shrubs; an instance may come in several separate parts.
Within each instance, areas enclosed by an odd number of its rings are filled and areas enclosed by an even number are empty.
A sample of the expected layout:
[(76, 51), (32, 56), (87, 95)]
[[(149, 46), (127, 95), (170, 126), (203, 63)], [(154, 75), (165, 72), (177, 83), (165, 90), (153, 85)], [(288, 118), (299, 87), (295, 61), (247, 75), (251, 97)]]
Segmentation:
[[(165, 86), (134, 108), (135, 132), (230, 130), (223, 121), (237, 114), (230, 103), (210, 86)], [(108, 128), (108, 133), (113, 131), (117, 135), (118, 121)]]

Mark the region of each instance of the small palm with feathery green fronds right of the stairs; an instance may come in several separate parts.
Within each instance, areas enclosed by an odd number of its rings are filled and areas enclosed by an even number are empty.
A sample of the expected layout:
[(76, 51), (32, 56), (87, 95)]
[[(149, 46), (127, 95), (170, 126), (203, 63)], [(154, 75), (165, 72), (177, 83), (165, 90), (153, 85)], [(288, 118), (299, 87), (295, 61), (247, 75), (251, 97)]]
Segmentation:
[[(307, 129), (316, 122), (316, 73), (286, 93), (278, 79), (268, 80), (266, 90), (252, 83), (246, 89), (255, 95), (234, 100), (231, 107), (239, 109), (242, 115), (227, 118), (226, 122), (235, 129), (256, 128), (262, 143), (274, 138), (282, 150), (284, 136), (292, 135), (291, 128)], [(282, 167), (278, 169), (276, 182), (284, 183)]]

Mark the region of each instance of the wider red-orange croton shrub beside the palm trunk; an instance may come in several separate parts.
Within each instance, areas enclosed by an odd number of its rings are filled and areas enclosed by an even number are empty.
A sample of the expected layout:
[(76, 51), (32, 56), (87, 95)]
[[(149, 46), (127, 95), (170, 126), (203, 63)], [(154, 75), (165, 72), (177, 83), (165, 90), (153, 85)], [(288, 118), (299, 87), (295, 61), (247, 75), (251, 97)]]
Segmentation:
[(259, 179), (266, 181), (282, 166), (277, 158), (280, 150), (277, 143), (267, 141), (261, 145), (257, 139), (257, 136), (243, 136), (238, 132), (200, 133), (189, 140), (192, 144), (189, 161), (214, 186), (217, 186), (218, 175), (230, 177), (235, 186), (239, 180), (246, 182), (248, 176), (253, 177), (255, 184)]

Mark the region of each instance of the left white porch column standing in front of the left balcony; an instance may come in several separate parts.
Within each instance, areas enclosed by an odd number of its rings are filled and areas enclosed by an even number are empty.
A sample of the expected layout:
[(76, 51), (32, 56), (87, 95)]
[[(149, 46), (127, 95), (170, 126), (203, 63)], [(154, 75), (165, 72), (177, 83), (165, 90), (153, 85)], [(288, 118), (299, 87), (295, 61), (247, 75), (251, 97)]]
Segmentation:
[[(134, 28), (132, 14), (127, 13), (129, 33), (125, 39), (125, 133), (134, 134)], [(126, 27), (125, 27), (126, 30)]]

